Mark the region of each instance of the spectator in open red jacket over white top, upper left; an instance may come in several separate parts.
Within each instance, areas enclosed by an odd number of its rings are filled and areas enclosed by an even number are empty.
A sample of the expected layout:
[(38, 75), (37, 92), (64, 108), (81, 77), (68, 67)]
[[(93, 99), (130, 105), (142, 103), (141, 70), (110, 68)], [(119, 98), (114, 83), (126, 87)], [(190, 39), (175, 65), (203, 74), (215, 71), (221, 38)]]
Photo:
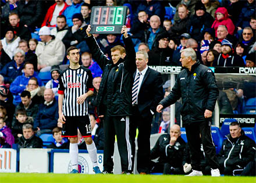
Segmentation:
[(41, 27), (55, 27), (57, 17), (62, 15), (68, 6), (69, 5), (67, 5), (64, 0), (55, 0), (54, 5), (50, 6), (48, 9), (47, 14), (44, 17), (44, 21), (42, 21)]

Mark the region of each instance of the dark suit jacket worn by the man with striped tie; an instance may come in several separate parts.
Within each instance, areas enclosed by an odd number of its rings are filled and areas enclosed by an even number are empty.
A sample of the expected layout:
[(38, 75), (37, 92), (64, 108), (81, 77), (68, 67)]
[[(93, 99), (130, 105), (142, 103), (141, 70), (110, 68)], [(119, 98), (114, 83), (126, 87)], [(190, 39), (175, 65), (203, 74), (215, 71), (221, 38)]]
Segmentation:
[[(136, 72), (133, 74), (135, 78)], [(163, 80), (158, 71), (150, 69), (145, 73), (138, 92), (138, 110), (143, 117), (152, 116), (156, 112), (157, 105), (163, 98)]]

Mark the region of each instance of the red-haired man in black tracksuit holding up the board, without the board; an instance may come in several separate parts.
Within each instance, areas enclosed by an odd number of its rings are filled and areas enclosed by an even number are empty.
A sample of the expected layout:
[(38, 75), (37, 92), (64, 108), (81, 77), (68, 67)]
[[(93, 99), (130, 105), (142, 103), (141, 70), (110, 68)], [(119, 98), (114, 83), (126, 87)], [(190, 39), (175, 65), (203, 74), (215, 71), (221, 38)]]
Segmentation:
[(135, 51), (133, 42), (127, 34), (126, 26), (122, 27), (126, 49), (115, 46), (111, 49), (112, 60), (109, 60), (99, 49), (93, 36), (86, 30), (86, 42), (93, 58), (103, 70), (101, 85), (97, 96), (99, 117), (104, 116), (104, 162), (103, 174), (113, 170), (113, 152), (115, 134), (118, 139), (118, 150), (121, 157), (123, 174), (131, 171), (131, 145), (129, 141), (129, 116), (131, 116), (131, 88), (133, 73), (136, 70)]

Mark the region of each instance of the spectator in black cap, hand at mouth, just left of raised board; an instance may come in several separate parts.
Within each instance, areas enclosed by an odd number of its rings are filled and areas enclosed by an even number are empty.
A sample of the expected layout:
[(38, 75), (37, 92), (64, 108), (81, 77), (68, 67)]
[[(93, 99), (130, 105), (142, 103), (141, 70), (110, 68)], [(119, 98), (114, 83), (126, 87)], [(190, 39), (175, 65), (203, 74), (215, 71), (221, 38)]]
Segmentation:
[[(81, 52), (90, 51), (84, 40), (86, 36), (86, 23), (84, 22), (83, 15), (81, 13), (75, 13), (72, 16), (73, 26), (69, 27), (66, 35), (63, 37), (62, 41), (66, 48), (70, 46), (76, 46), (80, 48)], [(83, 42), (82, 42), (83, 41)]]

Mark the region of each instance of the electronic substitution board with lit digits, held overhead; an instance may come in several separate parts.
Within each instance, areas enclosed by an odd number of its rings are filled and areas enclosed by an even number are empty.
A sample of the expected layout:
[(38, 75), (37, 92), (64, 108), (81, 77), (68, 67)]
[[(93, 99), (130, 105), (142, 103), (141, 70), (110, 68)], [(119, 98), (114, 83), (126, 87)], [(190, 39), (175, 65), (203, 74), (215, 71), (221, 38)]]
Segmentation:
[(126, 24), (127, 6), (93, 6), (91, 34), (121, 34)]

